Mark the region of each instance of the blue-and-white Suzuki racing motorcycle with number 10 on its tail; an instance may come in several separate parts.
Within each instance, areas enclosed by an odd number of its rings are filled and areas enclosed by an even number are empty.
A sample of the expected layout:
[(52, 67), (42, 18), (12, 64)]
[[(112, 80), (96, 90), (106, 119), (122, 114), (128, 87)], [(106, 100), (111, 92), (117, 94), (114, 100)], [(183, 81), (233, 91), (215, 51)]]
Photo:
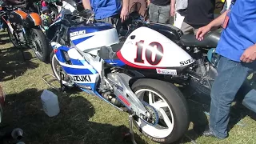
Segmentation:
[(186, 99), (158, 75), (181, 74), (190, 66), (188, 60), (194, 62), (190, 54), (145, 26), (120, 42), (114, 26), (94, 22), (88, 10), (65, 11), (47, 30), (54, 49), (51, 68), (61, 84), (78, 86), (129, 112), (135, 126), (154, 142), (181, 138), (189, 126)]

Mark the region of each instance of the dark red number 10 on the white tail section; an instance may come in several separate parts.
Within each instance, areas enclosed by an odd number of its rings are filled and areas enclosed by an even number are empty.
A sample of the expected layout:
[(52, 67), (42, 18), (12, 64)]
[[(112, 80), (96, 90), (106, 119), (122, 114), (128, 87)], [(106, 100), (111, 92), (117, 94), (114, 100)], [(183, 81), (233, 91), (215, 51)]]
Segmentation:
[[(139, 62), (139, 63), (144, 63), (144, 60), (142, 59), (142, 51), (143, 51), (143, 45), (144, 45), (144, 41), (139, 41), (136, 42), (136, 46), (137, 46), (137, 54), (136, 54), (136, 58), (134, 58), (134, 62)], [(152, 50), (147, 49), (145, 51), (145, 57), (146, 57), (146, 61), (150, 63), (150, 65), (158, 65), (159, 62), (161, 62), (162, 60), (162, 54), (163, 54), (163, 48), (162, 45), (158, 42), (151, 42), (150, 47), (152, 47), (152, 49), (154, 49), (154, 46), (156, 46), (157, 51), (161, 54), (155, 54), (155, 58), (154, 60), (152, 60)]]

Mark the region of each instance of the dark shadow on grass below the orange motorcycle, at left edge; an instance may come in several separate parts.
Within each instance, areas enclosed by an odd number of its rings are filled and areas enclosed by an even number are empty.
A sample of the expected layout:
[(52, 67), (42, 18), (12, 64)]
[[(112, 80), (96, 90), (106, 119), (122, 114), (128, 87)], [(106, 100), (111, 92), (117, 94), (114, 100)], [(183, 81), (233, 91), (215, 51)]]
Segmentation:
[[(29, 52), (24, 52), (25, 58), (33, 58)], [(22, 53), (15, 47), (0, 49), (0, 81), (8, 81), (10, 79), (21, 76), (26, 70), (38, 67), (37, 63), (24, 61)]]

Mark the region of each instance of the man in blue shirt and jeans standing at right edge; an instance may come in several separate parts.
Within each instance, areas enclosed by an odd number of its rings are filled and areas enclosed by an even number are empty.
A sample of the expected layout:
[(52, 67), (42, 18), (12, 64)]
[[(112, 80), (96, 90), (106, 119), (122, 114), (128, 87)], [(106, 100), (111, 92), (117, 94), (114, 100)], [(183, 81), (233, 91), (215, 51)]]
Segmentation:
[[(204, 0), (205, 1), (205, 0)], [(216, 48), (221, 55), (218, 62), (218, 76), (214, 80), (210, 97), (210, 125), (203, 135), (215, 138), (228, 137), (230, 106), (250, 70), (256, 68), (256, 0), (236, 0), (222, 15), (207, 26), (198, 29), (196, 38), (212, 28), (222, 26), (223, 31)], [(243, 102), (256, 112), (256, 90), (250, 90)], [(251, 105), (254, 104), (254, 105)]]

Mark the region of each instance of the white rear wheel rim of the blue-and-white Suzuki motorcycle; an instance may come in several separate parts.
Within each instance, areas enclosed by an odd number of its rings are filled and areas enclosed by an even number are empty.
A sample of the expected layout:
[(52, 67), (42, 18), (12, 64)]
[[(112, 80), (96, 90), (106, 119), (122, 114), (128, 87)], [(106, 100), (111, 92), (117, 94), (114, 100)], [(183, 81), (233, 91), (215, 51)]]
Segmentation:
[[(155, 126), (150, 126), (146, 122), (142, 121), (142, 119), (140, 118), (138, 118), (138, 122), (135, 122), (140, 128), (142, 128), (142, 130), (146, 134), (149, 134), (151, 137), (166, 138), (174, 130), (174, 114), (166, 100), (154, 90), (140, 89), (137, 90), (135, 94), (138, 96), (138, 98), (143, 99), (142, 96), (144, 97), (144, 92), (149, 92), (148, 103), (150, 104), (150, 106), (153, 106), (154, 109), (158, 111), (159, 119), (163, 119), (167, 127), (159, 125), (159, 122)], [(156, 98), (158, 98), (157, 101), (155, 100)], [(169, 116), (166, 114), (166, 111), (163, 108), (167, 108), (167, 110), (170, 111)]]

